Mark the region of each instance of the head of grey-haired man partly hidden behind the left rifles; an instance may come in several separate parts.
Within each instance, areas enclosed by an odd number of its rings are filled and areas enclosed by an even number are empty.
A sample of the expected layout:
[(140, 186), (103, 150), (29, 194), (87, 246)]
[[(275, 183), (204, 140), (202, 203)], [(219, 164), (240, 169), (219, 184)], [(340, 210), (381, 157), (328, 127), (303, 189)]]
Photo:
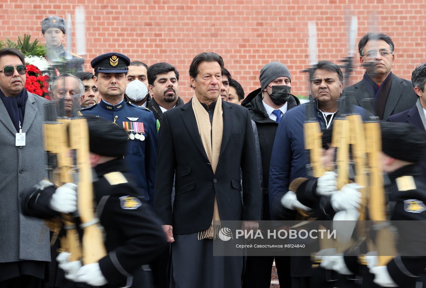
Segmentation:
[(79, 108), (77, 104), (81, 103), (83, 93), (83, 82), (72, 74), (63, 73), (53, 81), (49, 96), (52, 100), (62, 100), (56, 106), (58, 115), (70, 118), (72, 112)]

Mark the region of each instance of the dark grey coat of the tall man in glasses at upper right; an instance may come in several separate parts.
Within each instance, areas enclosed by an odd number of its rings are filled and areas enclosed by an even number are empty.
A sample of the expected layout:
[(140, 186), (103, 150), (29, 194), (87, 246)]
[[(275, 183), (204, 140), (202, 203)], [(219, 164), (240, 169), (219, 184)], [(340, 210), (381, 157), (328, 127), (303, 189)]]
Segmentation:
[[(351, 98), (351, 103), (371, 112), (371, 105), (362, 101), (362, 99), (370, 98), (367, 89), (360, 81), (352, 86), (343, 89), (343, 92), (353, 92), (354, 97)], [(416, 104), (417, 95), (414, 93), (411, 81), (399, 78), (392, 74), (392, 84), (389, 91), (388, 100), (386, 101), (385, 112), (383, 113), (383, 119), (387, 119), (390, 115), (394, 115), (403, 112)]]

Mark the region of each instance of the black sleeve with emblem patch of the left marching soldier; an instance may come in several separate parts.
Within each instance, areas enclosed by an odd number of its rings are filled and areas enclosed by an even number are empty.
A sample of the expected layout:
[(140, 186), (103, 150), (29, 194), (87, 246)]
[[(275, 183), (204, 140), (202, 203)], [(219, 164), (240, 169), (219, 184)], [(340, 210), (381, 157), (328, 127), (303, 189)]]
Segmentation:
[[(112, 286), (126, 283), (141, 265), (150, 263), (167, 245), (161, 223), (152, 208), (138, 199), (129, 184), (114, 185), (101, 211), (107, 233), (107, 256), (99, 260), (102, 274)], [(102, 199), (98, 205), (102, 204)]]

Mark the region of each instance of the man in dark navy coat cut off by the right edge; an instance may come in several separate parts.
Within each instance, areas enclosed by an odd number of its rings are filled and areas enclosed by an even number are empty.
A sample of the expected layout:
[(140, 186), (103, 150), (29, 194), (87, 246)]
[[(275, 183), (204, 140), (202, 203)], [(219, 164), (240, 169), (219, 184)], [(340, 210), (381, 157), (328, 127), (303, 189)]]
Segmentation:
[[(426, 131), (426, 62), (414, 69), (411, 81), (417, 94), (416, 104), (409, 110), (389, 116), (386, 121), (409, 123)], [(426, 181), (426, 155), (419, 164), (423, 171), (423, 179)]]

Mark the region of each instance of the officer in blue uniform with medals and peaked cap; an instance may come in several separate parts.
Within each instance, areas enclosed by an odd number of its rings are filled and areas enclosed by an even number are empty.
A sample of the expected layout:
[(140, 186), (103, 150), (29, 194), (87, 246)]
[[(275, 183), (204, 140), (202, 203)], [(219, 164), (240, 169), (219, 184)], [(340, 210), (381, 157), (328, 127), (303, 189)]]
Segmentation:
[(158, 135), (153, 112), (124, 100), (129, 64), (130, 59), (120, 53), (94, 58), (90, 65), (95, 69), (94, 81), (102, 100), (78, 113), (107, 119), (127, 131), (128, 151), (124, 159), (138, 181), (141, 196), (152, 204)]

